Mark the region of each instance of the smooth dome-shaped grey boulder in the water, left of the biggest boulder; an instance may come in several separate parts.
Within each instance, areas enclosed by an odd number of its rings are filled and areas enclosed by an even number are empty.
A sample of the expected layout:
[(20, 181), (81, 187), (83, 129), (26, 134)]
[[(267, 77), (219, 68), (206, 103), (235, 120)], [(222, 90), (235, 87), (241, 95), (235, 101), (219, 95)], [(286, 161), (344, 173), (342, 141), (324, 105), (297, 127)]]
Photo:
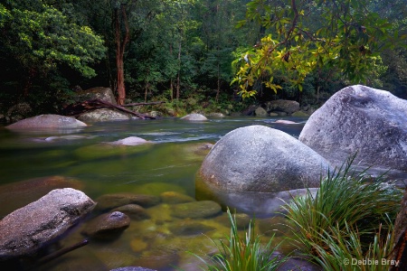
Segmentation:
[(318, 187), (327, 161), (307, 145), (267, 126), (245, 126), (224, 135), (198, 173), (223, 192), (282, 192)]

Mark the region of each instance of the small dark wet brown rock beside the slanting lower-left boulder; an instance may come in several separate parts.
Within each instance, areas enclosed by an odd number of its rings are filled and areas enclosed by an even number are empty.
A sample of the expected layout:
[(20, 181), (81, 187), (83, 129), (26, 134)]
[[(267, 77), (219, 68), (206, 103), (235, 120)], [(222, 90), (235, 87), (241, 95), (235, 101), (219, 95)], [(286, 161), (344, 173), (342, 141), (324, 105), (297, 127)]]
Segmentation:
[(116, 238), (128, 226), (130, 218), (120, 211), (113, 211), (90, 220), (82, 233), (90, 238)]

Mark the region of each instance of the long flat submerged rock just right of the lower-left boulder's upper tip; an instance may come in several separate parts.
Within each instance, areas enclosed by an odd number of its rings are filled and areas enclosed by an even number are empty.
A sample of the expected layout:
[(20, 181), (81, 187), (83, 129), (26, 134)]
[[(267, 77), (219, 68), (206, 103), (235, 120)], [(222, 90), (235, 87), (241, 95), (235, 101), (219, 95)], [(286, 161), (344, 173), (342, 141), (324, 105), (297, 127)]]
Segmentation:
[(111, 210), (123, 205), (137, 204), (142, 207), (150, 207), (158, 204), (160, 198), (154, 195), (142, 195), (134, 193), (106, 194), (96, 199), (98, 210)]

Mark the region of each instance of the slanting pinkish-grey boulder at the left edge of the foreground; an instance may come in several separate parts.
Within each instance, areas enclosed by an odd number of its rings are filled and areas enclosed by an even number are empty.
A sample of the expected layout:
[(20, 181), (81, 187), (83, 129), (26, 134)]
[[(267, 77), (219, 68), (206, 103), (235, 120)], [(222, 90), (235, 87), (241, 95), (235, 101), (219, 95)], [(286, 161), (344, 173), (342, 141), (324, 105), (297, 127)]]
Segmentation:
[(56, 189), (0, 220), (0, 261), (35, 253), (95, 206), (83, 192)]

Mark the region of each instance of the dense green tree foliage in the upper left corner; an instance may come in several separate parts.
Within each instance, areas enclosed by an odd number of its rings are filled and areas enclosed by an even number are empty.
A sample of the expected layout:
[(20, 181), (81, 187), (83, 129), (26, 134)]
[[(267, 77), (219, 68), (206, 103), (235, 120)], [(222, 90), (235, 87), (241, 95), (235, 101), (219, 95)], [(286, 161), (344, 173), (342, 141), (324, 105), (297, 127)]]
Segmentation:
[(50, 5), (35, 10), (0, 5), (0, 14), (3, 42), (25, 67), (46, 72), (65, 63), (84, 77), (96, 75), (89, 64), (100, 60), (106, 49), (90, 27), (71, 23)]

